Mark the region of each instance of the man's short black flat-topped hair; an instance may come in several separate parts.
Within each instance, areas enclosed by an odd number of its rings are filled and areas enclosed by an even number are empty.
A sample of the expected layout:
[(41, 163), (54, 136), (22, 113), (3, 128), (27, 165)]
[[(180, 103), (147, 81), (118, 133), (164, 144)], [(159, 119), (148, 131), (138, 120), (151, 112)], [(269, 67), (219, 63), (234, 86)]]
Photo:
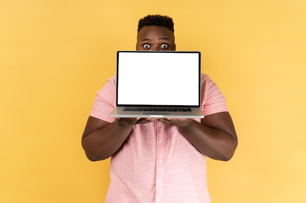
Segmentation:
[(148, 15), (144, 18), (141, 18), (138, 22), (138, 30), (143, 28), (144, 26), (155, 25), (155, 26), (163, 26), (168, 28), (174, 33), (174, 23), (173, 19), (168, 16), (161, 15)]

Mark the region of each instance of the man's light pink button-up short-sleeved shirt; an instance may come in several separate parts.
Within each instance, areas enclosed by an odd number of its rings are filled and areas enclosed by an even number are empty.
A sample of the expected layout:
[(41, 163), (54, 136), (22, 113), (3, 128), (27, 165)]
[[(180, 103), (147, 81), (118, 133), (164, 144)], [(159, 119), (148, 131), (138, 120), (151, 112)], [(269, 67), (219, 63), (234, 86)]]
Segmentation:
[[(204, 115), (228, 111), (223, 94), (201, 75)], [(97, 92), (90, 116), (113, 122), (116, 77)], [(200, 122), (200, 119), (197, 120)], [(206, 157), (175, 126), (153, 121), (135, 125), (112, 157), (106, 203), (210, 203)]]

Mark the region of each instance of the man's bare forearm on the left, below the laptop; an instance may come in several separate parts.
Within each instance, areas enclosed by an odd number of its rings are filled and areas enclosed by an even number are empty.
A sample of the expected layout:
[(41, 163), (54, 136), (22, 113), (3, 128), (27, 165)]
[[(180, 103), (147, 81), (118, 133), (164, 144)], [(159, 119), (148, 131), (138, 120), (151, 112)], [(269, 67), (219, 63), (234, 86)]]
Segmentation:
[(109, 158), (121, 148), (131, 133), (133, 126), (133, 123), (114, 121), (108, 126), (96, 129), (87, 136), (84, 136), (82, 146), (87, 158), (91, 161)]

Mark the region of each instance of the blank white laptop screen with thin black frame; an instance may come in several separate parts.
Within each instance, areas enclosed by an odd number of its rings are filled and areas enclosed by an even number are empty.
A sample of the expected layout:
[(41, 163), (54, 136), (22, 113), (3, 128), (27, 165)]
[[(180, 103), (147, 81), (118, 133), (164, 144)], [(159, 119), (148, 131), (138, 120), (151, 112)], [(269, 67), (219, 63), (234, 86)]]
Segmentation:
[(199, 106), (198, 52), (118, 52), (117, 106)]

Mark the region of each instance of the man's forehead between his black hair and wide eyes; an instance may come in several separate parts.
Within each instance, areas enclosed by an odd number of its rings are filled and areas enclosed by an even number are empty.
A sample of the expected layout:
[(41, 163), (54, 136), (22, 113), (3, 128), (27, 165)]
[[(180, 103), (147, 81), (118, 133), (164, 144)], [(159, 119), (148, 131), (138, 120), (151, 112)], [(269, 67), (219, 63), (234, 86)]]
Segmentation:
[(144, 26), (137, 34), (137, 41), (143, 39), (169, 38), (174, 41), (174, 33), (163, 26)]

